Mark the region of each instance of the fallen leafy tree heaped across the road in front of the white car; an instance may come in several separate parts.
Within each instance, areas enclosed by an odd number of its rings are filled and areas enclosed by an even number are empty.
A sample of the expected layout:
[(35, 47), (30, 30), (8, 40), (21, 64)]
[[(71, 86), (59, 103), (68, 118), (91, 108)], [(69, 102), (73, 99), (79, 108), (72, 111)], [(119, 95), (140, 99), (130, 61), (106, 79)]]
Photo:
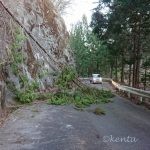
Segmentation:
[(56, 87), (59, 91), (50, 95), (48, 103), (53, 105), (73, 104), (77, 108), (85, 108), (91, 104), (110, 102), (113, 94), (110, 91), (90, 88), (82, 83), (76, 84), (77, 73), (72, 67), (65, 67), (58, 75)]

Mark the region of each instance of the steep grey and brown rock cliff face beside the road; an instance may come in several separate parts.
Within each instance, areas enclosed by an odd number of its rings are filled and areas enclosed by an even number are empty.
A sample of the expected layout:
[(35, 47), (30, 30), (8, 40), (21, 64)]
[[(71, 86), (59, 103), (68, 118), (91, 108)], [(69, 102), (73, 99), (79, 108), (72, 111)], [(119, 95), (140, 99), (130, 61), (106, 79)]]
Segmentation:
[[(67, 48), (68, 32), (59, 13), (50, 0), (1, 0), (0, 3), (0, 62), (9, 61), (10, 45), (16, 28), (26, 40), (22, 43), (25, 60), (22, 72), (29, 80), (34, 80), (38, 73), (45, 70), (53, 73), (65, 64), (74, 64), (71, 50)], [(22, 27), (21, 27), (22, 26)], [(40, 64), (40, 65), (39, 65)], [(39, 67), (40, 66), (40, 67)], [(6, 78), (18, 80), (8, 65)], [(48, 79), (47, 79), (48, 78)], [(51, 77), (38, 79), (41, 84)], [(50, 83), (51, 84), (51, 83)]]

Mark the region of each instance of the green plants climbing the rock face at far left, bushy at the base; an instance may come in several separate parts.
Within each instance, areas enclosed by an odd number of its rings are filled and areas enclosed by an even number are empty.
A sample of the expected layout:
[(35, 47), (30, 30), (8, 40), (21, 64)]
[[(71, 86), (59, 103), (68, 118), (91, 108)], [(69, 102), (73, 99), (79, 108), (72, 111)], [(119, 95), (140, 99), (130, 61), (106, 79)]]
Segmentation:
[(16, 99), (21, 103), (29, 103), (38, 98), (37, 89), (39, 84), (36, 81), (29, 82), (27, 75), (23, 74), (21, 64), (24, 63), (22, 44), (26, 39), (25, 35), (18, 28), (14, 33), (14, 41), (11, 44), (13, 73), (19, 78), (20, 89), (17, 89), (12, 82), (7, 81), (7, 87), (15, 94)]

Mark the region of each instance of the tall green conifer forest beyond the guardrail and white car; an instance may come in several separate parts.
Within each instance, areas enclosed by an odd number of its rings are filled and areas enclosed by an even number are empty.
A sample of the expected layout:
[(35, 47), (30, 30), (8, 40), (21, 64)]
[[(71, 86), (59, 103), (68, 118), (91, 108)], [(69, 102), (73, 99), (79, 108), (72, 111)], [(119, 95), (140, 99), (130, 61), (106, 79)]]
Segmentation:
[(135, 88), (150, 86), (150, 1), (100, 0), (90, 25), (72, 27), (70, 46), (79, 76), (100, 73)]

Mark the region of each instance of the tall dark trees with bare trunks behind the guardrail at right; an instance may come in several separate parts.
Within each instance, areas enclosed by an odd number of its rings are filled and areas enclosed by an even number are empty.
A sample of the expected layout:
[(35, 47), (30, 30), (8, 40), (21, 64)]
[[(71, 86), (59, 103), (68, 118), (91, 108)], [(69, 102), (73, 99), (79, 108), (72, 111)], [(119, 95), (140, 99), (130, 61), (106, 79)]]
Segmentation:
[[(111, 78), (121, 82), (126, 78), (129, 85), (132, 82), (132, 86), (138, 87), (141, 68), (149, 65), (145, 60), (150, 56), (150, 1), (101, 0), (97, 4), (91, 28), (94, 35), (107, 47), (105, 57), (101, 57), (107, 58), (107, 61), (100, 66), (108, 68), (105, 74), (109, 74)], [(104, 13), (103, 6), (109, 11)]]

